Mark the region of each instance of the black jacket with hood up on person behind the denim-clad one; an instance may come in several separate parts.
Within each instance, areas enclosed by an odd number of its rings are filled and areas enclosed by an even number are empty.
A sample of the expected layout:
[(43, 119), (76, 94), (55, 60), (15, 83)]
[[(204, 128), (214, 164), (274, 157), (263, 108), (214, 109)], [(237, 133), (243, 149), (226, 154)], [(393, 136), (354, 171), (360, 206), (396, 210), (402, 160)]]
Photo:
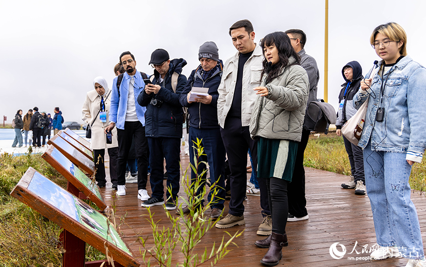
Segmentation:
[[(352, 68), (352, 74), (353, 74), (352, 82), (346, 78), (343, 71), (345, 67), (347, 66)], [(354, 95), (358, 92), (358, 89), (360, 88), (361, 79), (363, 78), (363, 69), (361, 68), (361, 65), (358, 63), (358, 61), (351, 61), (345, 66), (343, 66), (342, 75), (346, 82), (341, 85), (342, 89), (340, 90), (340, 93), (339, 93), (339, 108), (337, 110), (337, 119), (336, 119), (337, 129), (341, 129), (343, 124), (345, 124), (345, 122), (348, 119), (350, 119), (353, 115), (355, 115), (355, 113), (357, 112), (357, 110), (354, 108), (352, 99), (354, 98)], [(345, 94), (346, 86), (348, 86), (348, 89), (346, 90), (346, 94)], [(343, 99), (345, 100), (345, 102), (343, 103), (342, 109), (340, 109), (340, 103), (342, 102)]]

